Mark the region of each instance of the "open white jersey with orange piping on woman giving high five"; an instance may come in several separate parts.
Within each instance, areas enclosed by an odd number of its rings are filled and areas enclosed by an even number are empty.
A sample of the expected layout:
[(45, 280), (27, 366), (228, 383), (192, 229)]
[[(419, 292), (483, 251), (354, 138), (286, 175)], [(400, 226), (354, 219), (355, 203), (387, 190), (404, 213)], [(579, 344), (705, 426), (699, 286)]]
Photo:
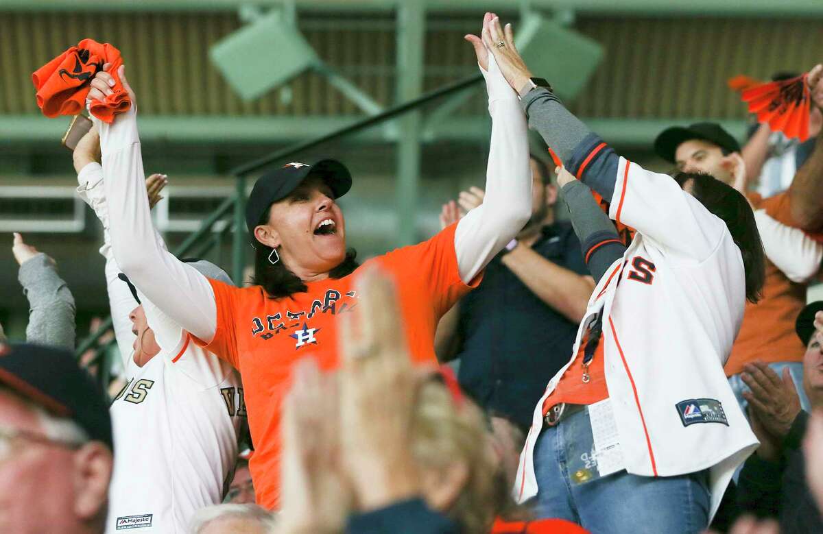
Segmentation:
[(714, 516), (733, 471), (758, 444), (723, 374), (746, 300), (740, 250), (723, 221), (671, 177), (624, 158), (609, 216), (634, 228), (635, 239), (597, 284), (569, 363), (537, 402), (514, 496), (537, 495), (532, 454), (543, 401), (574, 360), (583, 325), (602, 309), (606, 382), (626, 471), (709, 469)]

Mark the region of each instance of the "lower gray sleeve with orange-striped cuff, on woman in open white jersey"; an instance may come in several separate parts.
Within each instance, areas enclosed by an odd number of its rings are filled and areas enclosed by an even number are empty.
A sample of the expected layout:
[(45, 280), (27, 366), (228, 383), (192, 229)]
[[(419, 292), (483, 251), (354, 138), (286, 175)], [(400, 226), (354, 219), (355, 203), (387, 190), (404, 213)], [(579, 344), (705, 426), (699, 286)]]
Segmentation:
[(580, 239), (588, 272), (598, 282), (611, 264), (623, 256), (625, 245), (586, 184), (578, 180), (566, 183), (560, 194), (569, 207), (571, 225)]

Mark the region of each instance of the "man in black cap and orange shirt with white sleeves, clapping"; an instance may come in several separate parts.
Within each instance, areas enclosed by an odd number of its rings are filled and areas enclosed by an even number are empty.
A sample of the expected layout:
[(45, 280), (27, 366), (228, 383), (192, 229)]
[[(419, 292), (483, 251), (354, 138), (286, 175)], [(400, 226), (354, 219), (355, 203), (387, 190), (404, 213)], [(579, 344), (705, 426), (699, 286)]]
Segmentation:
[(821, 236), (792, 227), (788, 192), (766, 199), (746, 192), (740, 145), (717, 123), (667, 128), (655, 140), (654, 151), (678, 169), (704, 172), (729, 183), (746, 194), (755, 207), (757, 229), (768, 260), (763, 298), (757, 304), (746, 302), (743, 323), (724, 369), (744, 411), (751, 382), (751, 376), (744, 371), (754, 361), (765, 362), (778, 374), (791, 374), (802, 405), (807, 408), (801, 388), (803, 346), (794, 335), (792, 318), (806, 302), (807, 283), (820, 270)]

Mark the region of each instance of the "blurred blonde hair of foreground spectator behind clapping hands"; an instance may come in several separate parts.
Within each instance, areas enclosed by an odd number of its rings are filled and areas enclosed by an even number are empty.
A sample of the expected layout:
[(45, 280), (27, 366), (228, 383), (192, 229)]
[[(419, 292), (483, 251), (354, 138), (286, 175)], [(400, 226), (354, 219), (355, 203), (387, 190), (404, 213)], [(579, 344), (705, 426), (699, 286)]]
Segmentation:
[(412, 451), (422, 469), (465, 464), (466, 484), (448, 515), (463, 532), (489, 532), (499, 508), (499, 469), (480, 409), (468, 399), (453, 398), (444, 384), (426, 381), (412, 420)]

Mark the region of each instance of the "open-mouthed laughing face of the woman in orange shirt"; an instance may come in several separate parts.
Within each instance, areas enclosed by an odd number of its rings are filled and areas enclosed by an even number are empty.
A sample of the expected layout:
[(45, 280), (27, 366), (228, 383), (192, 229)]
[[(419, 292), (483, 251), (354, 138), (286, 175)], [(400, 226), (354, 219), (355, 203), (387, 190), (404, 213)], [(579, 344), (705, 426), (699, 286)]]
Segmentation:
[(331, 188), (318, 177), (309, 176), (291, 195), (272, 204), (268, 224), (258, 226), (255, 235), (277, 247), (281, 261), (302, 280), (329, 272), (346, 258), (343, 213)]

